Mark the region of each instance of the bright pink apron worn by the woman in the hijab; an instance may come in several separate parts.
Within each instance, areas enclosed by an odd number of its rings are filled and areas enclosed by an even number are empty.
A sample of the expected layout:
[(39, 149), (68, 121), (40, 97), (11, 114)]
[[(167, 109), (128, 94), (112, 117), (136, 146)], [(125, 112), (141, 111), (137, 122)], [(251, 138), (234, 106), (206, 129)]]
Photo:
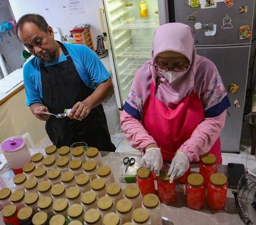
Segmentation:
[[(204, 119), (204, 109), (194, 91), (169, 109), (155, 97), (155, 89), (152, 82), (150, 96), (143, 108), (143, 126), (161, 148), (163, 160), (172, 161), (175, 152)], [(217, 157), (218, 164), (222, 163), (220, 138), (215, 141), (209, 153)]]

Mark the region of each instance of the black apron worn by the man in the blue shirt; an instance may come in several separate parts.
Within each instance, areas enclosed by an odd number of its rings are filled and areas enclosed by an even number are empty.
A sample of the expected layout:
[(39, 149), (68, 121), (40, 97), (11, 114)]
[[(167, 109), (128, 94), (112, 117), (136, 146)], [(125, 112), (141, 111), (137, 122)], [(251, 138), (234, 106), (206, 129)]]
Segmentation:
[[(41, 61), (40, 68), (44, 105), (54, 114), (71, 109), (77, 102), (84, 101), (93, 93), (79, 76), (67, 48), (59, 41), (58, 43), (67, 60), (51, 66), (44, 66)], [(97, 147), (99, 151), (115, 151), (101, 104), (92, 109), (82, 121), (50, 116), (45, 129), (52, 143), (58, 148), (83, 141), (88, 146)]]

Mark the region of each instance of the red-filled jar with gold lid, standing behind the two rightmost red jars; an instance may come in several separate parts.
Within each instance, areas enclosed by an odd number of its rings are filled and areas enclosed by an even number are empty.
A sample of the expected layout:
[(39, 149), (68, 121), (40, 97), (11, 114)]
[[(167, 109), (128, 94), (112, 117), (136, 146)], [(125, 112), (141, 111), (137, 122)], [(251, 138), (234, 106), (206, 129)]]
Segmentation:
[(204, 186), (207, 187), (210, 176), (213, 173), (217, 173), (218, 165), (216, 161), (216, 156), (213, 154), (206, 153), (200, 156), (199, 161), (199, 173), (204, 178)]

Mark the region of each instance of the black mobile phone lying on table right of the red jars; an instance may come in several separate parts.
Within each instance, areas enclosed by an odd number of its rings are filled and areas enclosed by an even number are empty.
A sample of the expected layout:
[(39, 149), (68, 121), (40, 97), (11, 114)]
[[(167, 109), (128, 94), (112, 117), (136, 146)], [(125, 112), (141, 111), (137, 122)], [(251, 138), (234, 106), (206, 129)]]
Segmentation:
[(228, 186), (229, 188), (237, 188), (240, 178), (244, 174), (244, 164), (228, 163)]

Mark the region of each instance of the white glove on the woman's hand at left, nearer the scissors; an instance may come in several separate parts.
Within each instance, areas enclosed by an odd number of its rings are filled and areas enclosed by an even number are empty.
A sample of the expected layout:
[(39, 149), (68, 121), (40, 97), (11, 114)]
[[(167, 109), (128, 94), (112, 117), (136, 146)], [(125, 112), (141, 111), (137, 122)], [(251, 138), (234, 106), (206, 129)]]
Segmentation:
[(159, 171), (162, 169), (163, 157), (160, 148), (148, 148), (145, 155), (143, 155), (140, 165), (148, 168), (159, 176)]

